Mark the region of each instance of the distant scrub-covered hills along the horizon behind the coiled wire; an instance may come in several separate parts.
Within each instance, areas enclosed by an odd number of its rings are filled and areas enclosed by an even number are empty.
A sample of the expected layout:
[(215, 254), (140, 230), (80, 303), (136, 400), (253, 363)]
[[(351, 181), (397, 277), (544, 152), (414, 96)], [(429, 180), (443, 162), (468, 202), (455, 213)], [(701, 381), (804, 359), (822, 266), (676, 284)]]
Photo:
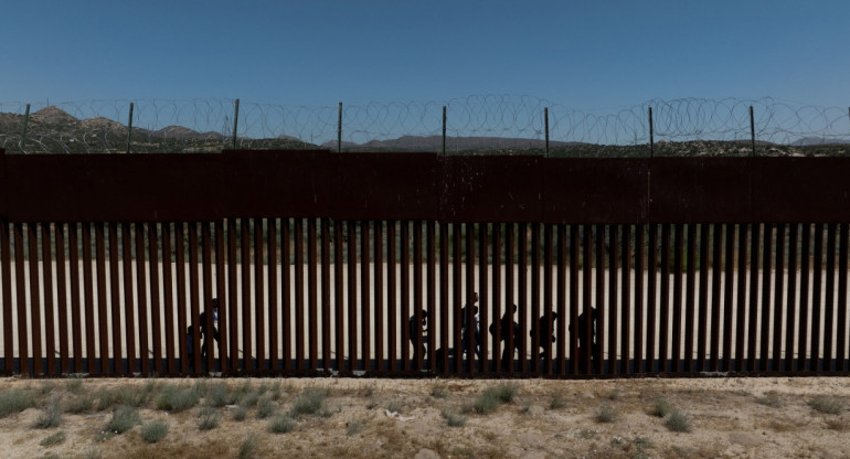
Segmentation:
[[(26, 127), (26, 152), (121, 152), (127, 147), (127, 127), (120, 122), (94, 117), (77, 119), (54, 107), (45, 107), (30, 116)], [(0, 147), (17, 151), (23, 132), (23, 115), (0, 113)], [(804, 137), (788, 145), (757, 142), (762, 154), (811, 156), (846, 154), (848, 139)], [(623, 157), (648, 156), (649, 146), (601, 146), (582, 142), (550, 141), (553, 156)], [(203, 152), (230, 148), (230, 137), (221, 132), (199, 132), (183, 126), (168, 126), (157, 130), (132, 128), (131, 150), (135, 152)], [(337, 141), (314, 145), (290, 136), (273, 139), (240, 138), (240, 148), (248, 149), (317, 149), (337, 150)], [(343, 142), (344, 151), (442, 151), (442, 136), (403, 136), (397, 139), (371, 140), (365, 143)], [(501, 154), (540, 153), (545, 141), (528, 138), (448, 137), (448, 153), (486, 152)], [(646, 151), (645, 151), (646, 150)], [(687, 141), (656, 143), (658, 156), (748, 156), (752, 147), (746, 141)]]

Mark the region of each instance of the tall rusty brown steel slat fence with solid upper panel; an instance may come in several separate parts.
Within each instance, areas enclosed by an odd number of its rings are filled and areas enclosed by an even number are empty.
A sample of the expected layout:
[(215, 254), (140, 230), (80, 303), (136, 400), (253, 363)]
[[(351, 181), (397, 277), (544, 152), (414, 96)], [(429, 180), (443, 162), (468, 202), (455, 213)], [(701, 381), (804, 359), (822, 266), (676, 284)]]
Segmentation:
[[(0, 372), (847, 374), (848, 172), (843, 158), (3, 153)], [(213, 298), (204, 341), (188, 329)]]

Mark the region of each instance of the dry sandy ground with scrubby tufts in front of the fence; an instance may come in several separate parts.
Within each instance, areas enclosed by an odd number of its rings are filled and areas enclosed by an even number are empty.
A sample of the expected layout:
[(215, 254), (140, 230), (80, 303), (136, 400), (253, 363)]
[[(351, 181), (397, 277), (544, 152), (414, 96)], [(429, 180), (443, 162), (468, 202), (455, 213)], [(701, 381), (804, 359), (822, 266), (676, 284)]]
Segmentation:
[[(203, 394), (182, 412), (158, 408), (167, 386)], [(212, 405), (224, 385), (229, 403)], [(511, 386), (516, 385), (516, 386)], [(476, 413), (487, 389), (512, 401)], [(358, 378), (25, 380), (0, 378), (0, 395), (34, 396), (34, 405), (0, 418), (4, 458), (714, 458), (850, 457), (850, 378), (692, 378), (619, 381), (469, 381)], [(270, 431), (311, 389), (327, 394), (316, 414), (291, 418), (293, 430)], [(224, 393), (223, 387), (217, 388)], [(497, 391), (498, 392), (498, 391)], [(259, 402), (249, 404), (245, 394)], [(51, 399), (62, 396), (57, 427), (38, 428)], [(68, 407), (88, 397), (92, 407)], [(140, 403), (141, 423), (163, 420), (168, 434), (147, 442), (142, 425), (105, 431), (121, 398)], [(820, 397), (820, 398), (818, 398)], [(109, 399), (103, 403), (102, 399)], [(672, 431), (655, 416), (665, 399), (687, 414), (690, 431)], [(827, 414), (816, 408), (838, 408)], [(105, 405), (105, 406), (98, 406)], [(480, 405), (479, 405), (480, 406)], [(277, 414), (262, 418), (262, 408)], [(387, 409), (389, 408), (389, 409)], [(201, 413), (217, 416), (202, 430)], [(397, 413), (399, 416), (390, 416)], [(449, 418), (454, 424), (449, 426)], [(51, 441), (52, 439), (52, 441)], [(50, 445), (55, 442), (55, 445)], [(247, 446), (253, 446), (251, 450)]]

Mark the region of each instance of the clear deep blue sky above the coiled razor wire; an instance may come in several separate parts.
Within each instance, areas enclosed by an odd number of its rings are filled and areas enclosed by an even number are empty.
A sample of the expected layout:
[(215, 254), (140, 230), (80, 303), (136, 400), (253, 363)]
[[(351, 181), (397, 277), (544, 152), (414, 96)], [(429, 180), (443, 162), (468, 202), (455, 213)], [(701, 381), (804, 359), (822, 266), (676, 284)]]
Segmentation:
[(0, 102), (850, 105), (850, 1), (2, 0)]

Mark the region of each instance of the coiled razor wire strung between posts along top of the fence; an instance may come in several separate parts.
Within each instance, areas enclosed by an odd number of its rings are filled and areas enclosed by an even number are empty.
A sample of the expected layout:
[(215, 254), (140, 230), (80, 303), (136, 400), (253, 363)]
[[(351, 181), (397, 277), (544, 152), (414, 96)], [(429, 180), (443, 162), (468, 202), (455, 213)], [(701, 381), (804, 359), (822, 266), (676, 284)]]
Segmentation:
[[(24, 153), (214, 152), (234, 147), (442, 152), (445, 110), (450, 153), (539, 153), (548, 137), (554, 156), (644, 156), (650, 143), (658, 154), (744, 154), (751, 107), (762, 154), (839, 154), (850, 143), (850, 110), (768, 97), (652, 99), (585, 110), (531, 96), (472, 95), (445, 103), (342, 106), (341, 126), (339, 106), (215, 98), (45, 102), (31, 104), (25, 117), (25, 103), (0, 103), (0, 147)], [(832, 149), (826, 151), (827, 146)]]

